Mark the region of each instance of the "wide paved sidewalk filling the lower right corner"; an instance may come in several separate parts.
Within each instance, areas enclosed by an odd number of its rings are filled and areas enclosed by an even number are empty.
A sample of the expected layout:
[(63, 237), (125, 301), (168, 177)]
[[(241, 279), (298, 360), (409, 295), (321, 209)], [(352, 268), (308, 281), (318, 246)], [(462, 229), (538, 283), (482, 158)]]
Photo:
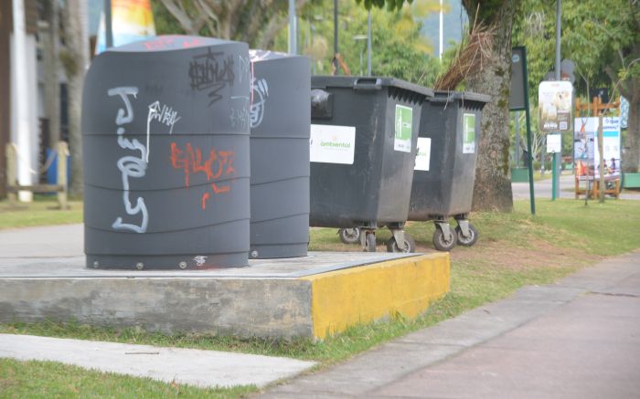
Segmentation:
[(266, 398), (630, 398), (640, 393), (640, 252), (519, 289)]

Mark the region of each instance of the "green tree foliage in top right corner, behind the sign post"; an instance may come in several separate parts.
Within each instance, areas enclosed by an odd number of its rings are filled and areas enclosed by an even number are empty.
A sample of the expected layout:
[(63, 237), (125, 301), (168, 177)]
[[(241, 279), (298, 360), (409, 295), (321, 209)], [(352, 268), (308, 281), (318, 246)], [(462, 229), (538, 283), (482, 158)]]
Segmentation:
[[(514, 26), (514, 44), (527, 46), (529, 87), (532, 96), (544, 75), (555, 63), (556, 2), (523, 0), (522, 13)], [(587, 86), (613, 89), (619, 79), (640, 77), (640, 17), (638, 2), (627, 0), (562, 2), (562, 58), (576, 64), (579, 94)], [(613, 80), (612, 80), (613, 79)], [(613, 94), (613, 93), (612, 93)]]

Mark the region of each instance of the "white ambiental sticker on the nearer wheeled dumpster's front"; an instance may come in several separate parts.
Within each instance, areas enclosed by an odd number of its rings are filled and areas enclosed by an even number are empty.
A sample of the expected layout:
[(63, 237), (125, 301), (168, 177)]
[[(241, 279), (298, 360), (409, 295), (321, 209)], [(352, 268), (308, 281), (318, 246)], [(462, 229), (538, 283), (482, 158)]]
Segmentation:
[(312, 163), (352, 165), (355, 147), (354, 126), (311, 125), (309, 155)]

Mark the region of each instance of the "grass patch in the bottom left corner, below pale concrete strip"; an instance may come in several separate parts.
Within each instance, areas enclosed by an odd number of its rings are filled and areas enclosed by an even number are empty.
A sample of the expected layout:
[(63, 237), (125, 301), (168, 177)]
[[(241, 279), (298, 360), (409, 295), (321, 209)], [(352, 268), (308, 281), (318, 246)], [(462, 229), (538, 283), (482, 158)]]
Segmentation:
[(201, 389), (114, 373), (100, 373), (58, 362), (0, 359), (0, 398), (236, 398), (255, 386)]

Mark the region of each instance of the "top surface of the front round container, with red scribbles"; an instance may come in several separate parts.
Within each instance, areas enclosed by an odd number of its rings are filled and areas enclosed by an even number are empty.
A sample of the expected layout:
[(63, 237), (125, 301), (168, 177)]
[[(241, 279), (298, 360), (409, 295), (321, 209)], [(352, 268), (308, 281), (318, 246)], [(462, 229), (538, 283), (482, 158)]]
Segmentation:
[(212, 37), (186, 36), (186, 35), (165, 35), (151, 39), (141, 40), (128, 45), (110, 47), (104, 52), (155, 52), (186, 50), (193, 47), (209, 47), (228, 44), (238, 44), (240, 42), (232, 40), (222, 40)]

